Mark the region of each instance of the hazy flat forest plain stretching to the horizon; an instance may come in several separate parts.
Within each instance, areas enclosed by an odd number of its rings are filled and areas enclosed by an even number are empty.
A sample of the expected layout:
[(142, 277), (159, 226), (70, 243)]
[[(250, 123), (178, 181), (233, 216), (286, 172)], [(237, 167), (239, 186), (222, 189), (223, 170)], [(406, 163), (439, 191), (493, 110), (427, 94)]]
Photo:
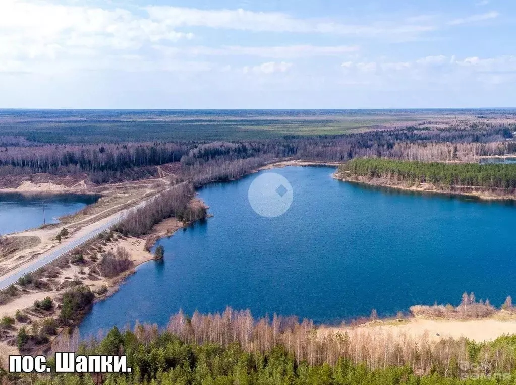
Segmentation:
[[(516, 109), (425, 110), (3, 110), (10, 142), (91, 144), (245, 141), (342, 135), (382, 128), (516, 127)], [(1, 145), (1, 141), (0, 141)]]

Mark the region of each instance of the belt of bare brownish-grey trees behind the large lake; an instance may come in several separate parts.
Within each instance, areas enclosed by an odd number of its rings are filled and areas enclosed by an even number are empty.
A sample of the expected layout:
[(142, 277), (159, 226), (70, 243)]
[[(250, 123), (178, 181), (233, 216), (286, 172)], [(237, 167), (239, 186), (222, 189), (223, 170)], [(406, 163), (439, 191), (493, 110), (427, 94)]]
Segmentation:
[(507, 127), (373, 130), (338, 136), (282, 136), (243, 141), (43, 144), (0, 136), (0, 176), (48, 173), (79, 175), (93, 183), (158, 175), (177, 163), (194, 185), (225, 180), (273, 159), (343, 162), (357, 157), (419, 161), (471, 160), (516, 152)]

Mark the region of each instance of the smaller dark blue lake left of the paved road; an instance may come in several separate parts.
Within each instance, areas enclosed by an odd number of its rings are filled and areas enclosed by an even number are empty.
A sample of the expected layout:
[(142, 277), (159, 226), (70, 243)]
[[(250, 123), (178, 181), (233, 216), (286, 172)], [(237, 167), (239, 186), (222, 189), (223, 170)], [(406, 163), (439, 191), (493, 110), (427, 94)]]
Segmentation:
[(0, 235), (41, 226), (43, 206), (45, 222), (57, 223), (59, 217), (73, 214), (98, 199), (99, 196), (81, 194), (0, 193)]

